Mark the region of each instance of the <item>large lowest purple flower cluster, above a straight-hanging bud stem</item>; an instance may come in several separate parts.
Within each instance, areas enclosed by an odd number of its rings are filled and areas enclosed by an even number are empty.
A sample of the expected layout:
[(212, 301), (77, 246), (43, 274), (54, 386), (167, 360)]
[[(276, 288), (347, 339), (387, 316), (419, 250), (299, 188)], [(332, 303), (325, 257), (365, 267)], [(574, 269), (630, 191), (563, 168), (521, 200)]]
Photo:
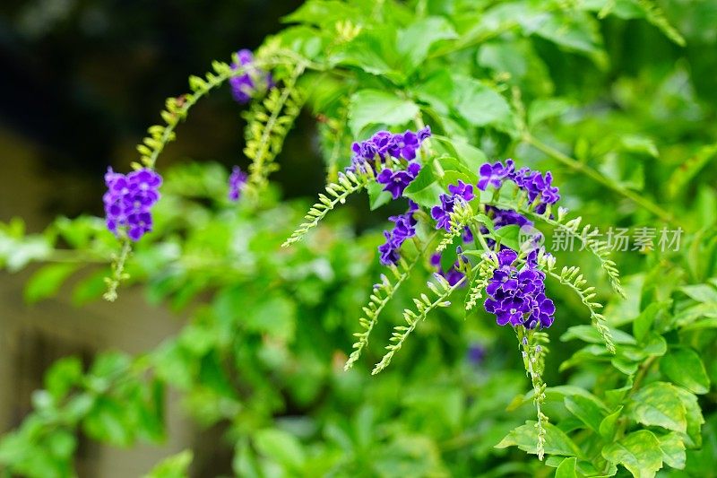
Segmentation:
[(548, 328), (553, 323), (555, 305), (545, 296), (545, 274), (537, 268), (537, 251), (532, 251), (525, 265), (514, 265), (517, 253), (505, 248), (497, 253), (498, 267), (486, 287), (486, 311), (496, 315), (499, 326)]

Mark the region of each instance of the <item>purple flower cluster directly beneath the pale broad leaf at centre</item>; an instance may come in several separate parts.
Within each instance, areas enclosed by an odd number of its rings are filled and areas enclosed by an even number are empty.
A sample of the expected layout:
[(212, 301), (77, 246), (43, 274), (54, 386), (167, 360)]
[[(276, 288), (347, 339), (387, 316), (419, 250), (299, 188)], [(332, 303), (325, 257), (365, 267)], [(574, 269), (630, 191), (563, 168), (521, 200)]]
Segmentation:
[(416, 159), (416, 152), (419, 151), (421, 143), (430, 135), (430, 126), (419, 129), (415, 133), (410, 130), (405, 133), (395, 134), (388, 131), (379, 131), (366, 141), (351, 145), (353, 157), (347, 170), (355, 172), (357, 170), (367, 170), (370, 167), (376, 172), (377, 162), (385, 163), (389, 157), (396, 160), (413, 161)]

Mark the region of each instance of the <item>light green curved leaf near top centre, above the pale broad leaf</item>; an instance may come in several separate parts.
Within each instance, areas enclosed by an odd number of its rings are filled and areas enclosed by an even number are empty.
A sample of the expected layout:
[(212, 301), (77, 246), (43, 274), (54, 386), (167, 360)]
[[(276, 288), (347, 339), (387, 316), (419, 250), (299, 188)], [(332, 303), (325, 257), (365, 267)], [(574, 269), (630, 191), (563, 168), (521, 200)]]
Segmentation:
[(428, 50), (442, 39), (456, 39), (458, 34), (444, 17), (427, 17), (410, 24), (398, 32), (398, 51), (413, 70), (428, 56)]

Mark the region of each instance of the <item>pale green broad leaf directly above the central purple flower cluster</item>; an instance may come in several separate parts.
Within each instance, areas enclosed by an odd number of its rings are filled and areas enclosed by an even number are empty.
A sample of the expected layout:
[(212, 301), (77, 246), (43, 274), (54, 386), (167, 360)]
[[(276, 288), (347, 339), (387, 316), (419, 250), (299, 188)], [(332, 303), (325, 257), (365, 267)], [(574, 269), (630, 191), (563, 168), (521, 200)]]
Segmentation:
[(389, 91), (361, 90), (351, 97), (349, 126), (354, 136), (368, 125), (402, 125), (419, 113), (410, 100), (402, 100)]

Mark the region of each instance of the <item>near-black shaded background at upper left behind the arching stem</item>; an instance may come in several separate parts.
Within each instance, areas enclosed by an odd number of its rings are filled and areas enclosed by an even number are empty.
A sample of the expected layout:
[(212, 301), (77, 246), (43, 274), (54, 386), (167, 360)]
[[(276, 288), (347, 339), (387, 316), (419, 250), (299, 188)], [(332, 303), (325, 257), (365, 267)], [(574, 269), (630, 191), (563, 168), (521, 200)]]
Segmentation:
[[(101, 215), (104, 171), (108, 165), (129, 169), (138, 157), (134, 145), (148, 126), (160, 123), (164, 100), (186, 92), (187, 77), (206, 72), (213, 59), (229, 61), (238, 48), (257, 47), (301, 3), (0, 3), (0, 130), (39, 148), (35, 172), (56, 185), (48, 188), (43, 213)], [(245, 167), (243, 108), (231, 100), (228, 86), (213, 92), (178, 128), (177, 143), (168, 146), (159, 169), (186, 158)], [(284, 170), (295, 161), (290, 175), (275, 177), (289, 196), (313, 195), (323, 181), (313, 125), (310, 117), (300, 118), (280, 160)], [(4, 174), (12, 175), (17, 161), (0, 148)], [(313, 164), (297, 168), (296, 161)]]

